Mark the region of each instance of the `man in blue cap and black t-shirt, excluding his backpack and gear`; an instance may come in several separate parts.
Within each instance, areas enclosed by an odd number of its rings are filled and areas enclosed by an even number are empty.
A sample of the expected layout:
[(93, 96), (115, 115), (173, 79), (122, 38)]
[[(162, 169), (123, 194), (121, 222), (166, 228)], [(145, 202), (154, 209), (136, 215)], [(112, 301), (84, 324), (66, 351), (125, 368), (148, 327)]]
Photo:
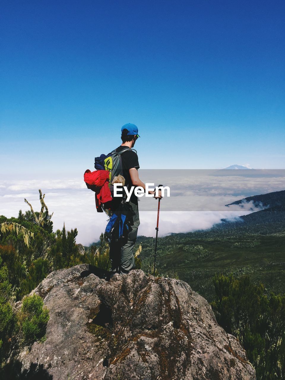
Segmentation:
[[(128, 123), (123, 125), (122, 129), (122, 144), (117, 147), (116, 152), (123, 152), (120, 154), (122, 158), (122, 176), (125, 179), (125, 186), (130, 189), (131, 186), (140, 186), (146, 191), (146, 185), (139, 179), (138, 169), (139, 161), (138, 155), (132, 148), (135, 145), (136, 140), (140, 137), (138, 135), (138, 127), (136, 125)], [(161, 198), (161, 191), (155, 196), (154, 191), (149, 191), (149, 194), (153, 194), (154, 198)], [(122, 198), (114, 198), (113, 202), (119, 203)], [(128, 204), (132, 211), (132, 216), (129, 218), (128, 233), (122, 237), (122, 241), (117, 242), (111, 240), (110, 244), (110, 259), (111, 259), (111, 277), (118, 272), (120, 274), (127, 274), (131, 269), (135, 269), (135, 258), (133, 255), (133, 247), (138, 235), (139, 226), (139, 210), (138, 210), (138, 197), (131, 193)], [(112, 207), (116, 210), (116, 206)], [(119, 247), (118, 247), (119, 245)], [(120, 248), (120, 254), (118, 249)], [(118, 259), (120, 262), (118, 263)], [(119, 265), (118, 265), (119, 264)]]

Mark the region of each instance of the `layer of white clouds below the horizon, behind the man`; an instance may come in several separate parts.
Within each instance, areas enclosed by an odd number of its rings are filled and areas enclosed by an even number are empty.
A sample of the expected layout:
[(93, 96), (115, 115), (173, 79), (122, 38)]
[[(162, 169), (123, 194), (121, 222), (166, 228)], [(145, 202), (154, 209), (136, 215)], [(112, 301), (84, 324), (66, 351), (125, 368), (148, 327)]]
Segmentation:
[[(230, 172), (140, 170), (144, 182), (168, 185), (171, 190), (170, 197), (161, 200), (160, 236), (211, 228), (222, 218), (234, 220), (239, 215), (259, 211), (264, 206), (254, 206), (253, 202), (225, 205), (248, 196), (285, 189), (284, 170)], [(39, 188), (46, 194), (49, 212), (54, 212), (54, 230), (61, 229), (64, 222), (67, 229), (78, 229), (78, 243), (89, 245), (98, 241), (108, 217), (96, 211), (94, 193), (81, 178), (0, 180), (0, 214), (11, 217), (17, 216), (19, 209), (28, 210), (24, 198), (34, 210), (40, 210)], [(153, 198), (140, 198), (139, 235), (155, 236), (157, 202)]]

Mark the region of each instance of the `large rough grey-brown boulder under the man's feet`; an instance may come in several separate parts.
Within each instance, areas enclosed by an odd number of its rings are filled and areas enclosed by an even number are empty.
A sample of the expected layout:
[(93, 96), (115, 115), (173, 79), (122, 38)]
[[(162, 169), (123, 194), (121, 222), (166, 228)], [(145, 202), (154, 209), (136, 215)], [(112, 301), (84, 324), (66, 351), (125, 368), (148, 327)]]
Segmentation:
[(46, 341), (20, 355), (25, 377), (256, 379), (237, 339), (183, 281), (135, 270), (107, 282), (84, 264), (52, 272), (34, 292), (50, 319)]

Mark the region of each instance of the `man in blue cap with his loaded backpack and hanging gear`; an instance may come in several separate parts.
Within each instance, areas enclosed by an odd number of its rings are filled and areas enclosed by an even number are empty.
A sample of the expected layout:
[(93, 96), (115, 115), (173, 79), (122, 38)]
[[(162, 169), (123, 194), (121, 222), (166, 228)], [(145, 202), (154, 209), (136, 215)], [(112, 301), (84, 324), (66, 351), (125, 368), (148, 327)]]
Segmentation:
[(123, 125), (121, 131), (122, 144), (108, 155), (95, 157), (96, 170), (91, 172), (87, 169), (84, 173), (87, 187), (95, 192), (97, 212), (104, 210), (110, 216), (105, 237), (110, 243), (111, 277), (115, 273), (127, 274), (135, 269), (133, 247), (139, 226), (139, 192), (147, 191), (150, 196), (159, 199), (158, 213), (161, 199), (159, 186), (156, 191), (150, 190), (139, 179), (138, 155), (132, 149), (139, 138), (138, 127), (128, 123)]

